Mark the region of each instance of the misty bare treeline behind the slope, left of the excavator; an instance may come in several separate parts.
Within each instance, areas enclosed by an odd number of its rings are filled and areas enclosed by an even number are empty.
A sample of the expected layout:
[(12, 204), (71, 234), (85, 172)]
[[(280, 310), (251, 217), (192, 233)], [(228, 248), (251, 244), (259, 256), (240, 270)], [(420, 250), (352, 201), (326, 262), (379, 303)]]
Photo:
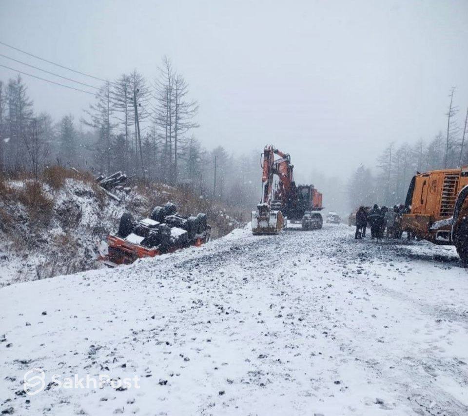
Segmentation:
[(198, 104), (166, 57), (154, 81), (135, 70), (103, 83), (91, 99), (83, 114), (56, 122), (34, 111), (20, 75), (0, 81), (0, 172), (38, 176), (52, 163), (96, 173), (121, 170), (182, 183), (233, 205), (258, 202), (262, 149), (234, 157), (222, 146), (204, 148), (194, 134)]

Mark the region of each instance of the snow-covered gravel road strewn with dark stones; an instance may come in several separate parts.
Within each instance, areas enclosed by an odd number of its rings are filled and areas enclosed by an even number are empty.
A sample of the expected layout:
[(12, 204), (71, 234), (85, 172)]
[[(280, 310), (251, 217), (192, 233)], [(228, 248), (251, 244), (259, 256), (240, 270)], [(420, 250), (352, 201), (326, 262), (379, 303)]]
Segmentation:
[[(343, 225), (235, 230), (3, 287), (0, 304), (0, 411), (14, 415), (468, 414), (468, 273), (451, 247)], [(33, 367), (140, 388), (27, 396)]]

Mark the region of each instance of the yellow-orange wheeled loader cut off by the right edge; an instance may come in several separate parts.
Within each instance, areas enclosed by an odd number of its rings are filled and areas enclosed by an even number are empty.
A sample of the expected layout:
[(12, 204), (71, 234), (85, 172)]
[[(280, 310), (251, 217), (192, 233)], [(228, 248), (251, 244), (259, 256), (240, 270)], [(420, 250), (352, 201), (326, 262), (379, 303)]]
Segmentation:
[(403, 230), (435, 244), (454, 245), (468, 262), (468, 166), (417, 174), (405, 206)]

